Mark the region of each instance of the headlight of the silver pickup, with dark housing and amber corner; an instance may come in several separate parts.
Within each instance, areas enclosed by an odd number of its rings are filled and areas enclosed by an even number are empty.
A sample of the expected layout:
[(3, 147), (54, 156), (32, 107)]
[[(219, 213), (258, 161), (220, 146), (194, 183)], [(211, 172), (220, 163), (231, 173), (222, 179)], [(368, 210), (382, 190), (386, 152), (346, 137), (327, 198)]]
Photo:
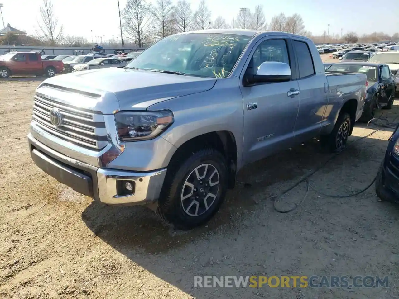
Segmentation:
[(156, 138), (174, 122), (173, 112), (121, 111), (115, 114), (120, 141), (138, 141)]

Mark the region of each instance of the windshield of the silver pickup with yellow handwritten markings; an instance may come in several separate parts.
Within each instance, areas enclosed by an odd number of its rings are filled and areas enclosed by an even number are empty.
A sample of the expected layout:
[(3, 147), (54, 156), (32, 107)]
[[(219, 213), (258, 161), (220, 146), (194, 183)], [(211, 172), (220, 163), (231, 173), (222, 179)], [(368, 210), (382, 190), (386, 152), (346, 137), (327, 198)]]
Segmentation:
[(224, 78), (250, 39), (252, 36), (220, 33), (170, 35), (140, 53), (127, 67)]

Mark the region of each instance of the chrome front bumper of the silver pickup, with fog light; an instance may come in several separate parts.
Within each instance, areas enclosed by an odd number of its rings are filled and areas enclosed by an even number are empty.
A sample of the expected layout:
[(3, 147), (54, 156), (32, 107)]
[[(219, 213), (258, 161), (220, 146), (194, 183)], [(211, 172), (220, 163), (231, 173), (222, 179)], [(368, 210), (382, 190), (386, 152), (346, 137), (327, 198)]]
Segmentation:
[[(160, 195), (166, 168), (151, 172), (133, 172), (99, 168), (63, 155), (28, 135), (31, 157), (35, 164), (57, 181), (75, 191), (108, 205), (145, 205)], [(120, 195), (123, 181), (134, 182), (134, 192)]]

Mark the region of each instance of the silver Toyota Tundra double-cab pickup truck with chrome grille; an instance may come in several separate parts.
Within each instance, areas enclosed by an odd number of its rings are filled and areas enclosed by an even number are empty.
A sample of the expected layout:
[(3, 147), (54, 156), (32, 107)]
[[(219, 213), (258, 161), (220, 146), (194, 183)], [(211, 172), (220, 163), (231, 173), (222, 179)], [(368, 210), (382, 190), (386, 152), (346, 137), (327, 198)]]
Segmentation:
[(190, 229), (215, 214), (245, 164), (318, 136), (344, 148), (365, 89), (364, 73), (326, 75), (303, 36), (190, 31), (127, 67), (45, 80), (29, 148), (38, 167), (79, 193), (147, 205)]

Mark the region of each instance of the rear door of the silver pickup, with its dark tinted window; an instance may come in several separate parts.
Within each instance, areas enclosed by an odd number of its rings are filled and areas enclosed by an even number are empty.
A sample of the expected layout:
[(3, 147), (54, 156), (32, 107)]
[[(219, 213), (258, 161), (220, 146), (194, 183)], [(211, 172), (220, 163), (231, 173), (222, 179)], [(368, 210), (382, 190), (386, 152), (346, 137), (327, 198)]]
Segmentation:
[(324, 72), (316, 73), (310, 47), (306, 40), (293, 39), (299, 84), (299, 111), (294, 134), (298, 142), (320, 134), (324, 110), (328, 105), (327, 78)]

